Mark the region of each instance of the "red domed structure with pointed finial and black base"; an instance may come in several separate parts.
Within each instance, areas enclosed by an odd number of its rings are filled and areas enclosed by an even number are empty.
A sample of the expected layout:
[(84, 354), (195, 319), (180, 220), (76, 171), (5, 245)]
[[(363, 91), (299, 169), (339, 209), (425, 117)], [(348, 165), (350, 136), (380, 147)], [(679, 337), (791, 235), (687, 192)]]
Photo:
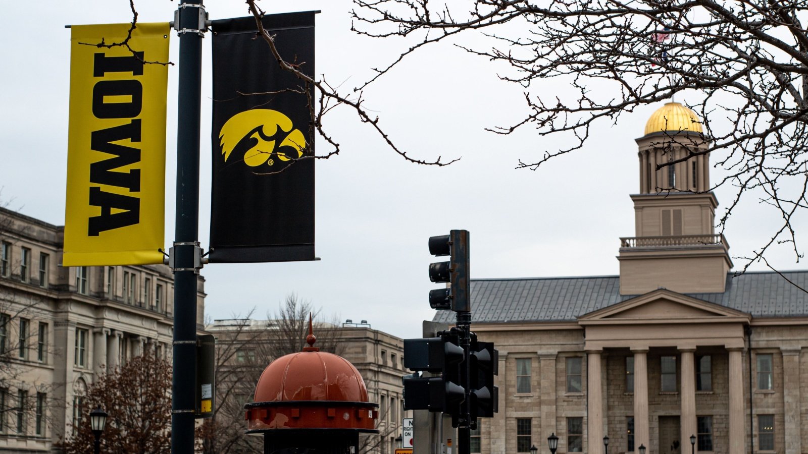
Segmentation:
[(244, 406), (246, 433), (265, 434), (264, 452), (350, 452), (360, 432), (378, 432), (379, 406), (368, 401), (359, 371), (343, 357), (319, 351), (316, 340), (309, 318), (309, 347), (272, 361), (259, 378), (253, 402)]

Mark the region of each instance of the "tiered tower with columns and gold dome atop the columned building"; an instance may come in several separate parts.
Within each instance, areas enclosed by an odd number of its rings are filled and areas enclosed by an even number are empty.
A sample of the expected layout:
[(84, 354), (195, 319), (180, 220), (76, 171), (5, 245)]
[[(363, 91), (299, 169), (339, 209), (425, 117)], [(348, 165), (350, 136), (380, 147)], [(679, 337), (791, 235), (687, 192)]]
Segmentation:
[[(657, 288), (680, 293), (724, 292), (732, 267), (729, 244), (713, 225), (718, 207), (709, 191), (709, 137), (696, 112), (667, 103), (637, 139), (639, 193), (635, 236), (621, 238), (620, 288), (637, 295)], [(674, 162), (670, 166), (657, 166)]]

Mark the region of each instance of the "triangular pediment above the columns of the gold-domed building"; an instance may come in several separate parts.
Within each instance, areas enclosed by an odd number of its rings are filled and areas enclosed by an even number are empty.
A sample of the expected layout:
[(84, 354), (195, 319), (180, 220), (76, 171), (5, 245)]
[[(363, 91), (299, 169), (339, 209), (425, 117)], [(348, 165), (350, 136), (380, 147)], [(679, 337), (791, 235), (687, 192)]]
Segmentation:
[(580, 325), (749, 322), (751, 315), (659, 288), (578, 318)]

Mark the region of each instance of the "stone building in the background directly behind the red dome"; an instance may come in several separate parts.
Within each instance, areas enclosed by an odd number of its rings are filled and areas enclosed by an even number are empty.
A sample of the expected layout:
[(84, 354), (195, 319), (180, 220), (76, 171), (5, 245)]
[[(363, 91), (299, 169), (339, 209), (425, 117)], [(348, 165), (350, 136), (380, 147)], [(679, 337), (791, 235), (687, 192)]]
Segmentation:
[[(216, 336), (217, 351), (223, 361), (222, 376), (229, 368), (238, 368), (239, 365), (250, 366), (255, 364), (258, 372), (263, 371), (272, 359), (284, 355), (292, 350), (290, 346), (272, 347), (272, 343), (285, 343), (279, 338), (277, 331), (283, 323), (278, 321), (257, 321), (250, 319), (216, 320), (206, 326), (206, 330)], [(294, 328), (302, 331), (303, 324)], [(300, 328), (300, 329), (298, 329)], [(397, 438), (402, 434), (402, 418), (411, 417), (411, 412), (403, 410), (404, 397), (402, 396), (402, 376), (404, 372), (404, 344), (402, 339), (380, 330), (373, 330), (370, 325), (360, 323), (346, 323), (344, 326), (320, 323), (315, 324), (314, 334), (318, 341), (315, 347), (322, 351), (329, 351), (347, 359), (362, 375), (365, 386), (368, 388), (368, 397), (373, 403), (379, 404), (378, 435), (363, 435), (364, 449), (359, 454), (374, 452), (377, 454), (393, 454), (397, 445)], [(287, 337), (281, 334), (280, 337)], [(299, 349), (304, 345), (304, 337), (292, 341)], [(299, 345), (298, 345), (299, 344)], [(217, 384), (217, 393), (220, 393), (217, 405), (229, 405), (223, 393), (234, 389), (234, 400), (239, 408), (236, 430), (242, 433), (245, 426), (243, 412), (240, 410), (244, 403), (251, 401), (255, 390), (257, 378), (249, 372), (233, 374), (231, 376), (250, 377), (243, 380), (235, 388), (230, 385)], [(235, 412), (232, 412), (235, 413)], [(229, 417), (230, 412), (225, 413)]]

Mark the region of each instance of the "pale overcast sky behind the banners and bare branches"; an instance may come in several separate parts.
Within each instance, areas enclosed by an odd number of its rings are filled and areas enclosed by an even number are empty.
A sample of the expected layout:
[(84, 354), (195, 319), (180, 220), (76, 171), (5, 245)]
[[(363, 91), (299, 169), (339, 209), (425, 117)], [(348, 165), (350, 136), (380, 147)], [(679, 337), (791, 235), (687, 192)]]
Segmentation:
[[(268, 12), (322, 10), (317, 16), (317, 69), (332, 85), (350, 88), (386, 65), (408, 43), (370, 40), (349, 30), (346, 0), (267, 2)], [(139, 20), (173, 19), (177, 2), (137, 0)], [(239, 0), (211, 1), (211, 19), (246, 15)], [(65, 24), (128, 22), (125, 0), (4, 5), (0, 46), (0, 199), (28, 216), (61, 225), (65, 220), (69, 30)], [(470, 37), (469, 37), (470, 39)], [(179, 40), (171, 36), (171, 61)], [(204, 43), (200, 241), (207, 248), (210, 193), (210, 44)], [(214, 264), (207, 279), (208, 317), (228, 318), (255, 307), (274, 311), (292, 292), (341, 320), (367, 320), (402, 338), (419, 337), (431, 319), (427, 238), (468, 229), (473, 278), (616, 275), (619, 237), (634, 234), (629, 194), (638, 191), (637, 148), (649, 106), (600, 124), (579, 150), (537, 171), (515, 170), (519, 158), (553, 149), (557, 139), (530, 128), (503, 137), (483, 128), (524, 115), (518, 86), (499, 82), (487, 61), (448, 44), (408, 58), (364, 95), (393, 141), (414, 158), (459, 158), (448, 167), (417, 166), (385, 147), (347, 109), (326, 127), (342, 145), (317, 164), (319, 262)], [(166, 246), (173, 240), (177, 67), (169, 70)], [(595, 87), (596, 88), (596, 87)], [(536, 94), (566, 87), (546, 81)], [(328, 118), (328, 117), (326, 117)], [(318, 151), (326, 151), (318, 142)], [(713, 181), (719, 170), (713, 170)], [(731, 189), (718, 191), (728, 202)], [(776, 213), (749, 200), (730, 221), (733, 256), (747, 255), (768, 238)], [(722, 207), (719, 207), (721, 209)], [(805, 216), (797, 221), (799, 231)], [(735, 260), (736, 267), (740, 264)], [(770, 263), (795, 269), (788, 247), (772, 250)], [(755, 269), (764, 269), (760, 265)]]

